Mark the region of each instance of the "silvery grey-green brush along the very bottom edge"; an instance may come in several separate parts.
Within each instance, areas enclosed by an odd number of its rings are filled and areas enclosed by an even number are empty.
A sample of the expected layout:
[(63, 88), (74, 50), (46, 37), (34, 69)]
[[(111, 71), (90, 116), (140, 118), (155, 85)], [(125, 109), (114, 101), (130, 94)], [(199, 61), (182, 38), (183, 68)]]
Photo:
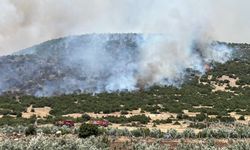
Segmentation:
[(141, 139), (130, 139), (129, 141), (116, 142), (116, 139), (107, 136), (77, 138), (72, 135), (61, 137), (38, 134), (25, 138), (5, 138), (0, 141), (0, 149), (11, 150), (247, 150), (250, 149), (248, 140), (228, 140), (228, 144), (216, 144), (214, 139), (204, 139), (199, 142), (181, 139), (178, 144), (171, 146), (164, 140), (154, 139), (151, 142)]

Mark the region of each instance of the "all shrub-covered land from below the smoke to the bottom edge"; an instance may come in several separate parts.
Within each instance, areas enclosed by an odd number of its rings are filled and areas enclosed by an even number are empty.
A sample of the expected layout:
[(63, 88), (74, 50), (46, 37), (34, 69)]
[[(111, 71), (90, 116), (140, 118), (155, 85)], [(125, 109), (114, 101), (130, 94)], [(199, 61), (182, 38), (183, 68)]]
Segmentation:
[[(6, 92), (0, 96), (0, 132), (7, 137), (20, 134), (20, 138), (14, 144), (8, 138), (0, 140), (0, 149), (250, 149), (250, 45), (228, 45), (235, 49), (230, 61), (209, 64), (211, 69), (203, 75), (187, 69), (186, 81), (179, 87), (156, 85), (134, 92), (53, 97)], [(45, 107), (50, 108), (47, 115), (36, 113), (38, 108)], [(25, 117), (25, 113), (33, 115)], [(164, 113), (169, 117), (154, 118)], [(124, 129), (85, 124), (94, 115), (97, 116), (94, 119), (105, 119)], [(47, 126), (61, 120), (72, 120), (82, 126)], [(187, 127), (181, 132), (174, 128), (159, 129), (164, 125)], [(117, 142), (121, 137), (129, 140)], [(142, 142), (140, 138), (154, 140)], [(178, 144), (173, 146), (166, 139)], [(203, 143), (183, 139), (202, 139)], [(228, 142), (221, 146), (219, 139)]]

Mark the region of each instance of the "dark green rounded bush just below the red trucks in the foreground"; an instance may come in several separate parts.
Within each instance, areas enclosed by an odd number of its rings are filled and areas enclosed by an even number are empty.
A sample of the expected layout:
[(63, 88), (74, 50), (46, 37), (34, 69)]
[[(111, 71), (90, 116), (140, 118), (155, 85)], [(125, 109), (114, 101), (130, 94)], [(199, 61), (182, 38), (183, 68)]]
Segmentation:
[(93, 124), (82, 124), (79, 128), (78, 136), (80, 138), (87, 138), (92, 135), (97, 136), (99, 134), (99, 129)]

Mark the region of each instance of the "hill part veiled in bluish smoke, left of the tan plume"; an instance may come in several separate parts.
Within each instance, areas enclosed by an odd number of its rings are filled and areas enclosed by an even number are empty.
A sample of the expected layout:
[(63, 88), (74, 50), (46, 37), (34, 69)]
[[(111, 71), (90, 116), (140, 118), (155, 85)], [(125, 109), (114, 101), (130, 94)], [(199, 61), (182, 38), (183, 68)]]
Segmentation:
[(72, 36), (1, 57), (0, 93), (51, 96), (109, 90), (106, 82), (118, 69), (134, 71), (129, 65), (139, 41), (137, 34)]

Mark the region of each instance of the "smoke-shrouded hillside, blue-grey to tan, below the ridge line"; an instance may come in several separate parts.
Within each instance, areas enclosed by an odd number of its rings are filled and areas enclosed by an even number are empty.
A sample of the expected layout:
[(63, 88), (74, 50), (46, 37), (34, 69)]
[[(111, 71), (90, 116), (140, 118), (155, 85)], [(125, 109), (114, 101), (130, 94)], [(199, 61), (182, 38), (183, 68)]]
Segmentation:
[(206, 64), (230, 59), (226, 45), (190, 42), (179, 45), (159, 34), (90, 34), (48, 41), (0, 59), (0, 93), (51, 96), (179, 85), (187, 69), (204, 73)]

